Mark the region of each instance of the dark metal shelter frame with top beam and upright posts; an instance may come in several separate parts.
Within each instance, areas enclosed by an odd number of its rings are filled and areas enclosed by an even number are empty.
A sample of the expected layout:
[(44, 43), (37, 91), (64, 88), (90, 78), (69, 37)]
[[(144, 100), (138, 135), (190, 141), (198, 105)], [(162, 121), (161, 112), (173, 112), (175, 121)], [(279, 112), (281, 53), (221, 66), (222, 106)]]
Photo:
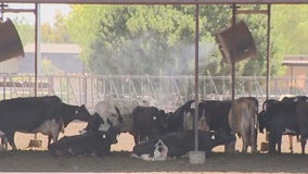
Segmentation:
[[(36, 10), (38, 3), (72, 3), (72, 4), (195, 4), (195, 101), (198, 101), (198, 5), (200, 4), (268, 4), (268, 25), (270, 24), (270, 4), (308, 4), (308, 0), (0, 0), (3, 3), (35, 3)], [(235, 13), (233, 13), (234, 17)], [(36, 21), (37, 21), (36, 15)], [(234, 18), (233, 18), (234, 20)], [(36, 23), (37, 27), (37, 23)], [(37, 29), (36, 29), (37, 30)], [(268, 34), (268, 39), (270, 35)], [(37, 40), (37, 38), (36, 38)], [(269, 49), (269, 40), (268, 49)], [(37, 46), (37, 44), (36, 44)], [(37, 54), (37, 53), (36, 53)], [(36, 58), (37, 59), (37, 58)], [(267, 80), (269, 80), (269, 51), (267, 52)], [(234, 71), (234, 70), (233, 70)], [(232, 72), (233, 72), (232, 71)], [(37, 70), (36, 70), (37, 76)], [(232, 79), (234, 79), (234, 73), (232, 73)], [(268, 86), (268, 85), (267, 85)], [(234, 85), (232, 85), (232, 90), (234, 90)], [(234, 92), (232, 92), (232, 99)], [(268, 87), (267, 87), (268, 96)], [(198, 104), (195, 104), (195, 116), (194, 125), (196, 125), (198, 116)], [(194, 149), (198, 150), (197, 146), (198, 132), (196, 126), (194, 126)]]

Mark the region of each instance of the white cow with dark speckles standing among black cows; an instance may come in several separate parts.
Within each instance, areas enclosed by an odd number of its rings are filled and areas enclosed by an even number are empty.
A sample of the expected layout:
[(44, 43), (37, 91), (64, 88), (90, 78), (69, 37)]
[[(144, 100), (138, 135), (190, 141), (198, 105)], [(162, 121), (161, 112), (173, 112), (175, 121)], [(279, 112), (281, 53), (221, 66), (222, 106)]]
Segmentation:
[(110, 99), (100, 101), (95, 108), (97, 112), (104, 121), (99, 130), (107, 130), (111, 126), (119, 126), (121, 133), (132, 128), (132, 111), (138, 107), (149, 107), (146, 100), (125, 100)]

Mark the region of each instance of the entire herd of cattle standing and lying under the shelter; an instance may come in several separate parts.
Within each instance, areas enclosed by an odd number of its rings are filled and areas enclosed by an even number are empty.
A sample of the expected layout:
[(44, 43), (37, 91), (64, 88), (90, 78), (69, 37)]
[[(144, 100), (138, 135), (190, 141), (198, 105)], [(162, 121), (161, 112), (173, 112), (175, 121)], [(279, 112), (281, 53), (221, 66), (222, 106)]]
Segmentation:
[[(251, 147), (255, 153), (257, 135), (266, 129), (269, 153), (281, 153), (282, 135), (297, 136), (305, 153), (307, 99), (306, 96), (269, 99), (261, 111), (254, 97), (198, 103), (190, 100), (167, 113), (144, 100), (112, 99), (99, 102), (91, 114), (85, 105), (66, 104), (56, 96), (15, 98), (0, 101), (0, 138), (2, 146), (8, 146), (8, 141), (16, 150), (15, 132), (42, 133), (49, 137), (48, 149), (53, 156), (103, 157), (117, 144), (120, 133), (130, 133), (136, 144), (133, 156), (154, 161), (179, 158), (194, 150), (194, 126), (198, 129), (198, 150), (206, 153), (219, 145), (231, 145), (235, 150), (235, 134), (243, 140), (242, 152)], [(198, 117), (194, 125), (196, 108)], [(80, 134), (59, 139), (74, 120), (88, 124)]]

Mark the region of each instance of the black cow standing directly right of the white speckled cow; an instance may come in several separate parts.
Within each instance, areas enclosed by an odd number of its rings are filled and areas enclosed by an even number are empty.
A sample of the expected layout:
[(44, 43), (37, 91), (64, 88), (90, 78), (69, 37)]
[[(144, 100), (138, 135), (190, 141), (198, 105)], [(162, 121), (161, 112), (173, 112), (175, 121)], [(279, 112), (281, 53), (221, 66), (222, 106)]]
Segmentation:
[(129, 133), (133, 136), (136, 145), (166, 133), (167, 128), (167, 114), (164, 110), (156, 107), (137, 107), (132, 111), (132, 129)]

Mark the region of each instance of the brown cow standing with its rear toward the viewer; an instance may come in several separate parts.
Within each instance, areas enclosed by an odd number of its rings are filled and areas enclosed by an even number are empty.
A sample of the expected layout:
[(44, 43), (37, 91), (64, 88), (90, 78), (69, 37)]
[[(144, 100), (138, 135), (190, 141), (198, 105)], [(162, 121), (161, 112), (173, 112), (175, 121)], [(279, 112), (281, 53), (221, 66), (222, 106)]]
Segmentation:
[(228, 120), (232, 133), (238, 133), (243, 139), (242, 152), (247, 152), (248, 146), (252, 152), (257, 152), (257, 100), (249, 98), (239, 98), (232, 102)]

